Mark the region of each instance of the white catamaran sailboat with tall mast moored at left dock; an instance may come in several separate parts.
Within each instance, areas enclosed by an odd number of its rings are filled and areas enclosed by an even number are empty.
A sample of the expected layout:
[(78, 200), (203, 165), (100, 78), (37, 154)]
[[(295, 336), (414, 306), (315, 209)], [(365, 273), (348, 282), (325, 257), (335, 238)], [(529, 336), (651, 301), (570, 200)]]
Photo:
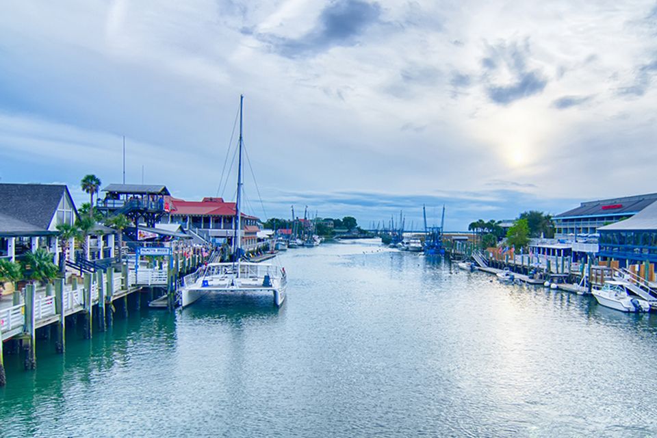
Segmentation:
[(179, 291), (179, 303), (187, 307), (199, 298), (224, 294), (272, 294), (274, 305), (281, 307), (285, 302), (287, 274), (285, 268), (271, 263), (248, 263), (242, 261), (242, 108), (244, 95), (240, 96), (240, 140), (237, 164), (237, 196), (235, 200), (235, 234), (233, 235), (233, 261), (209, 263), (183, 278)]

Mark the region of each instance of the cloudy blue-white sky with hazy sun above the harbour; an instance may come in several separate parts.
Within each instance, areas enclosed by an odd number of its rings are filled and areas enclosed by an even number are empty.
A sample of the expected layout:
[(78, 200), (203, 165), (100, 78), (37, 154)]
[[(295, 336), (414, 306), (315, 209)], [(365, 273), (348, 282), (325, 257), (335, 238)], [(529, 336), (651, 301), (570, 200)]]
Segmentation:
[(2, 182), (81, 203), (125, 136), (128, 183), (233, 200), (240, 94), (261, 218), (455, 231), (657, 192), (654, 0), (0, 5)]

